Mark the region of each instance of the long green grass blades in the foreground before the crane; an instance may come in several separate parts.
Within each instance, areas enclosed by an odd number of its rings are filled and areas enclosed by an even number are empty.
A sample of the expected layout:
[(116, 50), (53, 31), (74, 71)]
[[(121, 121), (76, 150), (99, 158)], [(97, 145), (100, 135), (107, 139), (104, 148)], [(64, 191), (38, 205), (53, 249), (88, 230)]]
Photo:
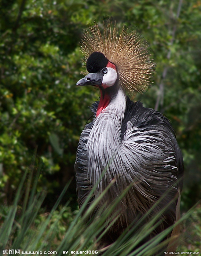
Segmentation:
[[(41, 163), (36, 166), (35, 156), (33, 156), (31, 166), (27, 168), (22, 177), (13, 205), (7, 210), (2, 208), (0, 211), (1, 217), (4, 220), (0, 227), (0, 255), (2, 250), (5, 249), (20, 249), (20, 254), (22, 251), (56, 251), (57, 255), (63, 255), (63, 251), (75, 251), (72, 254), (79, 255), (76, 251), (86, 251), (82, 255), (96, 255), (94, 252), (90, 253), (90, 251), (97, 250), (96, 245), (101, 237), (104, 236), (116, 221), (116, 218), (118, 218), (117, 214), (113, 216), (112, 213), (119, 200), (121, 200), (121, 196), (124, 196), (127, 191), (125, 190), (119, 198), (114, 200), (109, 208), (98, 211), (96, 214), (92, 213), (105, 192), (100, 194), (85, 211), (85, 206), (90, 200), (89, 196), (83, 207), (75, 214), (71, 222), (68, 223), (68, 220), (66, 222), (62, 220), (64, 214), (69, 211), (69, 201), (64, 206), (60, 205), (60, 201), (70, 182), (65, 186), (50, 213), (45, 214), (41, 212), (41, 206), (46, 192), (37, 191), (40, 171)], [(91, 191), (92, 194), (93, 190)], [(141, 223), (144, 218), (152, 210), (145, 214), (136, 225), (126, 229), (107, 250), (106, 248), (100, 249), (101, 255), (158, 255), (157, 252), (168, 243), (168, 241), (163, 241), (163, 239), (171, 232), (173, 227), (164, 230), (164, 232), (155, 236), (152, 240), (140, 245), (141, 241), (160, 224), (157, 220), (165, 209), (155, 214), (146, 225), (142, 226)], [(194, 208), (189, 210), (179, 222), (188, 219), (193, 211)], [(6, 215), (4, 212), (6, 212)]]

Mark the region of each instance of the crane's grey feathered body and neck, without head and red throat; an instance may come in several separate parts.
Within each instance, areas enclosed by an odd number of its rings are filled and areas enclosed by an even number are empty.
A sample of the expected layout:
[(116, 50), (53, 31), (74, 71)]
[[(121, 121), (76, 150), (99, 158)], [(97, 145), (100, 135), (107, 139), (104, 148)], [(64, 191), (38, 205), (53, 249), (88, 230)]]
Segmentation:
[[(119, 103), (118, 103), (119, 102)], [(122, 90), (95, 118), (98, 102), (93, 104), (94, 119), (82, 131), (75, 162), (78, 202), (81, 207), (93, 185), (106, 168), (94, 198), (115, 178), (97, 206), (109, 206), (122, 191), (132, 185), (117, 206), (119, 222), (103, 238), (105, 245), (115, 241), (125, 226), (137, 221), (165, 194), (156, 207), (162, 209), (175, 199), (182, 181), (183, 158), (169, 120), (159, 112), (132, 102)], [(90, 202), (91, 202), (90, 201)], [(89, 202), (89, 204), (90, 204)], [(163, 214), (163, 227), (175, 222), (177, 199)], [(119, 224), (121, 223), (121, 224)], [(108, 239), (110, 237), (110, 241)]]

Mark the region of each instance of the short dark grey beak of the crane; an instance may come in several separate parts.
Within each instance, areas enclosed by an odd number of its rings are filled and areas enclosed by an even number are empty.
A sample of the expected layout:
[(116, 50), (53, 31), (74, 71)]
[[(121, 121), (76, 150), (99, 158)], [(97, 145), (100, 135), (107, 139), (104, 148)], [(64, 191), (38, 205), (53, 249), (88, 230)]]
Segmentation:
[(85, 86), (85, 85), (101, 85), (103, 81), (104, 74), (100, 73), (89, 73), (84, 78), (80, 79), (76, 85)]

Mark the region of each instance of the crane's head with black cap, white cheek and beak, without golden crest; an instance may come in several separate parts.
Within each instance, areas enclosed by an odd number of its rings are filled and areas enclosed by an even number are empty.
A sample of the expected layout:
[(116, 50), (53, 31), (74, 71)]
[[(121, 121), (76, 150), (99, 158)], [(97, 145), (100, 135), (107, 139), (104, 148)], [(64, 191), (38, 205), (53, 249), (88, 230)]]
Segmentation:
[(116, 66), (100, 52), (90, 55), (86, 62), (86, 69), (89, 74), (80, 79), (76, 85), (93, 85), (106, 89), (113, 86), (118, 77)]

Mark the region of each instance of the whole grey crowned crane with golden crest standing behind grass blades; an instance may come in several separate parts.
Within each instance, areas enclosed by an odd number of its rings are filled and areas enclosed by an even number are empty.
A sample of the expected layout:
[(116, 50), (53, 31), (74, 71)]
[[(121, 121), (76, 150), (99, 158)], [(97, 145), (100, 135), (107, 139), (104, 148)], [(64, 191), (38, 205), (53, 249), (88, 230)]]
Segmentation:
[[(116, 24), (107, 21), (102, 33), (96, 22), (89, 27), (81, 49), (89, 74), (76, 85), (98, 87), (100, 101), (92, 106), (94, 119), (82, 131), (77, 149), (79, 207), (99, 180), (89, 204), (115, 182), (98, 203), (97, 210), (109, 207), (131, 186), (116, 207), (118, 221), (101, 240), (102, 246), (108, 246), (161, 199), (155, 211), (168, 205), (161, 214), (162, 224), (145, 242), (179, 218), (183, 175), (181, 150), (169, 120), (126, 96), (126, 92), (143, 92), (148, 87), (153, 72), (148, 46), (136, 32), (125, 26), (119, 31)], [(167, 237), (177, 231), (175, 228)], [(169, 250), (173, 250), (170, 245)]]

